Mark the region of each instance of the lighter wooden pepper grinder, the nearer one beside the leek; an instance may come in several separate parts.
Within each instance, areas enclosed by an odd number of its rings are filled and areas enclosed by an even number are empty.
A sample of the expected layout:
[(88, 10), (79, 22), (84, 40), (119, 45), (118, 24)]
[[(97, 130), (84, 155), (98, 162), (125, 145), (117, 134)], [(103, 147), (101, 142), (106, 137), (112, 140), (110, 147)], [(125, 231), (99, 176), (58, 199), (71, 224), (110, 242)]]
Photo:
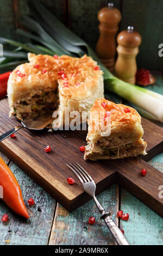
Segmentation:
[(115, 72), (118, 78), (131, 84), (135, 84), (137, 71), (136, 56), (139, 53), (141, 35), (134, 31), (134, 27), (128, 27), (117, 36), (118, 58), (115, 64)]

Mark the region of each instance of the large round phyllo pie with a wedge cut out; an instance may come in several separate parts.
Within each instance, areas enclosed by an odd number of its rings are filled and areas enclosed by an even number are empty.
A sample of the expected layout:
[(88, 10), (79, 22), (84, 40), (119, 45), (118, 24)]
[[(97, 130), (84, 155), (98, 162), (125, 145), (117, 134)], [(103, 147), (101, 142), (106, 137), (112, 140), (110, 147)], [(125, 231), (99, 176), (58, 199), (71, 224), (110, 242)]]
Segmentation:
[[(86, 55), (82, 58), (28, 53), (29, 63), (12, 71), (8, 81), (10, 115), (18, 119), (62, 113), (55, 126), (64, 123), (65, 107), (69, 112), (82, 111), (86, 116), (98, 97), (103, 97), (103, 72)], [(55, 115), (54, 115), (55, 116)]]

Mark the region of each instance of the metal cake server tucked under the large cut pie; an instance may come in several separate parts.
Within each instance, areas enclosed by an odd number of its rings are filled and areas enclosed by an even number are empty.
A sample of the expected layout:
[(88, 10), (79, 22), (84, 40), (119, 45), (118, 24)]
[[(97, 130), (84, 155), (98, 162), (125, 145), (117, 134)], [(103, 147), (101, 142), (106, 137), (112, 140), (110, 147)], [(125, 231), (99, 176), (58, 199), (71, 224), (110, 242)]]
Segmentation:
[(37, 119), (24, 119), (22, 120), (20, 126), (15, 126), (8, 132), (3, 133), (0, 135), (0, 142), (12, 135), (12, 133), (17, 132), (18, 130), (22, 128), (26, 128), (28, 130), (43, 130), (48, 124), (52, 122), (53, 118), (52, 115), (48, 117), (39, 117)]

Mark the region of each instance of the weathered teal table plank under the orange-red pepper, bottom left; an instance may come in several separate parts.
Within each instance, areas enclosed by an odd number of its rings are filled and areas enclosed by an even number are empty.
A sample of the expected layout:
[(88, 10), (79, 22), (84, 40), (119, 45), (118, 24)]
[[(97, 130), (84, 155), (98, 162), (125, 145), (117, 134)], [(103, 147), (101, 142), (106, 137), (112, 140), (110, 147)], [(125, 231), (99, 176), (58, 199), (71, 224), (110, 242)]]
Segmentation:
[[(9, 163), (7, 157), (2, 157)], [(0, 221), (0, 245), (8, 242), (10, 245), (47, 245), (56, 202), (14, 163), (11, 162), (9, 167), (21, 186), (30, 218), (24, 220), (17, 216), (1, 200), (0, 216), (7, 213), (9, 221)], [(30, 206), (27, 200), (31, 197), (34, 198), (35, 204)]]

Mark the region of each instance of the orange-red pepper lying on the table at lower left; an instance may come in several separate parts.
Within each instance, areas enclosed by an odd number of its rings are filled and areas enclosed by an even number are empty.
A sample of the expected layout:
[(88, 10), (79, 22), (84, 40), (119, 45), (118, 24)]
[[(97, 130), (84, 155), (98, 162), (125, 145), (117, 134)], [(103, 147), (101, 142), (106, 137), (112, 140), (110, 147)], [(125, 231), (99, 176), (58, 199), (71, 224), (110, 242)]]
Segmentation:
[(0, 157), (0, 186), (3, 188), (2, 200), (16, 214), (29, 218), (26, 206), (24, 205), (21, 188), (11, 172), (10, 168)]

